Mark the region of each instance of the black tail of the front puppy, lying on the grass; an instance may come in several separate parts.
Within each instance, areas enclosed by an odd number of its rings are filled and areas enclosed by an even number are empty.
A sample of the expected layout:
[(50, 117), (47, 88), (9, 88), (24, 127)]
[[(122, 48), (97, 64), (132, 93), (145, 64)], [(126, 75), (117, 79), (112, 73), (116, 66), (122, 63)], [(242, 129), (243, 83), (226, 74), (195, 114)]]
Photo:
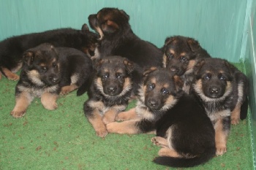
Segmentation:
[(160, 156), (157, 158), (154, 158), (154, 163), (158, 163), (160, 165), (164, 166), (171, 166), (176, 168), (187, 168), (192, 166), (198, 166), (200, 164), (206, 163), (211, 158), (214, 157), (216, 153), (216, 148), (211, 147), (206, 152), (204, 152), (202, 155), (198, 155), (195, 158), (173, 158), (173, 157), (167, 157), (167, 156)]

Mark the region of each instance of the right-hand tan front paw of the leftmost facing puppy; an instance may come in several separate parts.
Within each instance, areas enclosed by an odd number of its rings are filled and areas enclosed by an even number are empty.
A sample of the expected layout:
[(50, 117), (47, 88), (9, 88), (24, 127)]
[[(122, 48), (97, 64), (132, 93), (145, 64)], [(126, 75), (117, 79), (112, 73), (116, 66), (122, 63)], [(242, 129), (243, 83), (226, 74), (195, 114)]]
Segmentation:
[(53, 93), (42, 93), (41, 96), (41, 102), (42, 102), (42, 106), (45, 107), (45, 109), (57, 109), (58, 105), (56, 104), (56, 100), (58, 98), (57, 94), (53, 94)]

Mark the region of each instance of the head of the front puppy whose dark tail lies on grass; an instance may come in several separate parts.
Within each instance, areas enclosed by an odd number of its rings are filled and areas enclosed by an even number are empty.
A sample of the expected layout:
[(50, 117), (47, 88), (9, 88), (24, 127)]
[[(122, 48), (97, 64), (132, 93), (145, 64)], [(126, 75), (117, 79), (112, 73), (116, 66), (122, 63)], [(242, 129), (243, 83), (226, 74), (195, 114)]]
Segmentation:
[(181, 79), (167, 69), (152, 67), (144, 72), (140, 100), (152, 110), (165, 111), (183, 94)]

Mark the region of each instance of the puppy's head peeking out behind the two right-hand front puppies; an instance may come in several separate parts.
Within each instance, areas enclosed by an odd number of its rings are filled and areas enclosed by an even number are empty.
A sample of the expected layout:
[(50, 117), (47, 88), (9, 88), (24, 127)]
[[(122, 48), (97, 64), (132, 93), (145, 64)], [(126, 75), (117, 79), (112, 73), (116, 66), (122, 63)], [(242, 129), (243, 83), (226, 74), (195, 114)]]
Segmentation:
[(165, 39), (163, 66), (181, 76), (192, 72), (195, 66), (195, 52), (201, 47), (192, 38), (172, 36)]

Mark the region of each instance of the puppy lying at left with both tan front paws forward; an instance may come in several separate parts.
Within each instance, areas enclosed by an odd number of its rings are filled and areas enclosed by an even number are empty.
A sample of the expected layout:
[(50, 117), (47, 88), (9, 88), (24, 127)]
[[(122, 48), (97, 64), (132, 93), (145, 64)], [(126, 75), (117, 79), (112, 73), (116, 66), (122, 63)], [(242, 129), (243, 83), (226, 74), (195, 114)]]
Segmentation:
[(86, 91), (86, 83), (93, 72), (91, 59), (80, 50), (55, 48), (48, 43), (23, 53), (23, 69), (15, 88), (16, 104), (13, 117), (23, 117), (35, 97), (40, 97), (45, 109), (56, 109), (59, 93), (66, 94), (80, 88), (78, 95)]

